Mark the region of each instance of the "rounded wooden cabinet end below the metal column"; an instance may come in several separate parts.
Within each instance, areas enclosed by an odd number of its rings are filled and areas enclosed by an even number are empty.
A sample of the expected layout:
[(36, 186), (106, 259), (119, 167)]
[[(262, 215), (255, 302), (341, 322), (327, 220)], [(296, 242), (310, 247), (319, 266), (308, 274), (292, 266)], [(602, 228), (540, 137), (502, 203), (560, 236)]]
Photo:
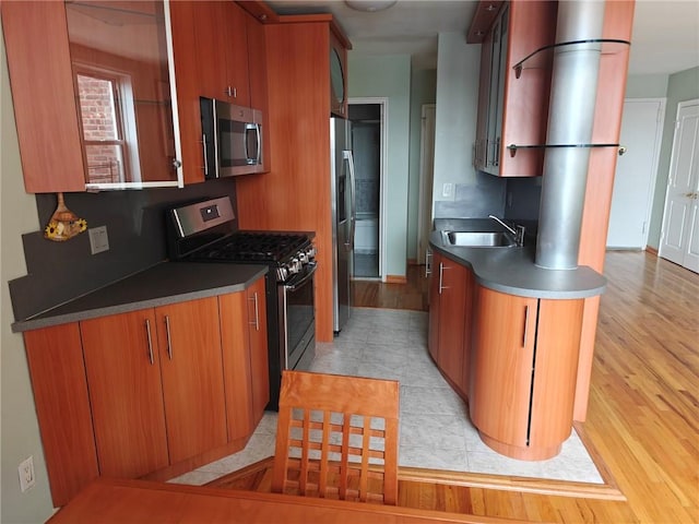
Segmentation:
[(476, 287), (470, 414), (498, 453), (545, 460), (570, 436), (583, 303)]

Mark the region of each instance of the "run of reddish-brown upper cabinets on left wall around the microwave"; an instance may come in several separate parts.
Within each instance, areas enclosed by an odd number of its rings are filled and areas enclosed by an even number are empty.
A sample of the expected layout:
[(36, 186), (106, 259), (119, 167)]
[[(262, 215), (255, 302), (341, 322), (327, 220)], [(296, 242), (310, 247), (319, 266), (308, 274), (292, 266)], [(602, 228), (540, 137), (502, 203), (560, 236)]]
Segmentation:
[(202, 182), (199, 97), (266, 110), (262, 26), (234, 1), (1, 9), (29, 193)]

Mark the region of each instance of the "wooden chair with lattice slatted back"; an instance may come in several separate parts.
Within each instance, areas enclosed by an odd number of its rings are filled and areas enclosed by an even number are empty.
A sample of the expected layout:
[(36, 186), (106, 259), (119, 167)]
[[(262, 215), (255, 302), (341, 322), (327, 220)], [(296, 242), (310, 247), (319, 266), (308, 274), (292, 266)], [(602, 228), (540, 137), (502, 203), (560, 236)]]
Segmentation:
[(394, 505), (398, 417), (396, 381), (284, 371), (272, 491)]

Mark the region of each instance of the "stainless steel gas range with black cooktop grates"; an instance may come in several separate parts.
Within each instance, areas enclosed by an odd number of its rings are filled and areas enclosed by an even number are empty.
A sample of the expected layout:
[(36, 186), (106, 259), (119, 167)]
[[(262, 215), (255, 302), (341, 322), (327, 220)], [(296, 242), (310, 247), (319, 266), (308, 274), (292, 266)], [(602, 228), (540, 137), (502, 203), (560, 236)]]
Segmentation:
[(284, 369), (309, 369), (316, 352), (316, 248), (301, 231), (237, 230), (228, 196), (167, 212), (168, 251), (178, 262), (266, 265), (270, 402), (276, 409)]

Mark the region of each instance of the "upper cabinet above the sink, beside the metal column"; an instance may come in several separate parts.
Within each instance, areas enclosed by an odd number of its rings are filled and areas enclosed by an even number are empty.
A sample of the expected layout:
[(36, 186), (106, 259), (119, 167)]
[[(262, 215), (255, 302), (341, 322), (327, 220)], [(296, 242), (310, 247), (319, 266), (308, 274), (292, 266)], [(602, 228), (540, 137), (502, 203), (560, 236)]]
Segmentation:
[[(491, 4), (482, 2), (478, 10)], [(500, 177), (542, 175), (543, 148), (518, 150), (512, 155), (508, 146), (544, 144), (550, 68), (529, 68), (518, 74), (514, 66), (554, 43), (557, 5), (553, 1), (502, 2), (490, 28), (478, 32), (483, 47), (473, 153), (476, 169)], [(476, 21), (482, 21), (477, 13)]]

